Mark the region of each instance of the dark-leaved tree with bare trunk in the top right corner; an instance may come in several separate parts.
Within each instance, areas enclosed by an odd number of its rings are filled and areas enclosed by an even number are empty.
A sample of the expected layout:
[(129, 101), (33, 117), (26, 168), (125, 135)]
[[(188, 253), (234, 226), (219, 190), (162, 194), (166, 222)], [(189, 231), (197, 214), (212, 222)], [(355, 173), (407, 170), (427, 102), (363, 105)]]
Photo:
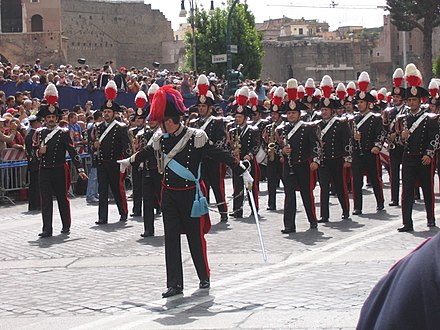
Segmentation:
[(401, 31), (419, 29), (423, 33), (422, 71), (424, 81), (432, 78), (432, 31), (440, 25), (439, 0), (387, 0), (391, 22)]

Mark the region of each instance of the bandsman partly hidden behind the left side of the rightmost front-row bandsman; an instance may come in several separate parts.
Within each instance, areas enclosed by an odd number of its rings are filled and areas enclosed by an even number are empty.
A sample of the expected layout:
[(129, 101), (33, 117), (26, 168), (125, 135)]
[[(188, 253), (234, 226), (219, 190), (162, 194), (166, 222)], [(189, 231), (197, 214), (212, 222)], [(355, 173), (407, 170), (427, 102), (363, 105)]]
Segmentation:
[[(390, 183), (391, 202), (390, 206), (399, 206), (400, 199), (400, 168), (402, 165), (403, 145), (397, 143), (396, 123), (398, 118), (405, 116), (408, 108), (405, 105), (405, 88), (402, 88), (404, 73), (397, 68), (393, 74), (393, 89), (391, 91), (393, 106), (383, 112), (383, 125), (387, 133), (388, 147), (390, 153)], [(400, 128), (397, 127), (400, 131)]]

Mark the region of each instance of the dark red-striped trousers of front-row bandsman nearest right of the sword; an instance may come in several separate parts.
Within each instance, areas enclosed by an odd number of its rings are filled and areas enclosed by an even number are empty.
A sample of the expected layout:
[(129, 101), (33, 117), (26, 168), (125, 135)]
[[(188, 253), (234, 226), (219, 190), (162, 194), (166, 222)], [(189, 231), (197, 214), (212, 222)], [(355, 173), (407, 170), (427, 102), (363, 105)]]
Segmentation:
[[(292, 172), (292, 174), (290, 174)], [(286, 169), (283, 173), (284, 184), (284, 228), (295, 229), (296, 218), (296, 188), (299, 188), (307, 219), (310, 223), (316, 222), (315, 198), (313, 196), (314, 182), (310, 174), (310, 163), (302, 162), (292, 165), (292, 169)]]

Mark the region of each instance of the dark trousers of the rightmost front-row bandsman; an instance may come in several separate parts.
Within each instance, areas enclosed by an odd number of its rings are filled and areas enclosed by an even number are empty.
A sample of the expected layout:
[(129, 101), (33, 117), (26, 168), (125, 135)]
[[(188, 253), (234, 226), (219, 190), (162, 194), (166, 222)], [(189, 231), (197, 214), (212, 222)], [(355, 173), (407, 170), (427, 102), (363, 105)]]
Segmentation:
[(403, 156), (402, 162), (402, 217), (403, 224), (412, 227), (412, 209), (414, 203), (414, 187), (420, 183), (425, 200), (426, 219), (434, 218), (434, 162), (422, 164), (422, 155)]

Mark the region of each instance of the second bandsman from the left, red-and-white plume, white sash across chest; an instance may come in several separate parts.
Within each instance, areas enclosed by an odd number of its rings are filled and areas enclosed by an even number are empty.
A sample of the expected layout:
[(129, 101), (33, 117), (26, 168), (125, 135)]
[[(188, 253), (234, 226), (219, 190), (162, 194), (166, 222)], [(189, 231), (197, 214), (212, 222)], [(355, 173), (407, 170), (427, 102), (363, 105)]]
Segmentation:
[(104, 121), (92, 133), (93, 145), (98, 152), (99, 208), (97, 225), (108, 223), (108, 189), (112, 190), (119, 211), (119, 221), (127, 221), (128, 206), (123, 180), (117, 160), (129, 157), (132, 146), (127, 126), (116, 120), (120, 106), (115, 102), (117, 87), (113, 80), (105, 86), (106, 101), (101, 106)]

